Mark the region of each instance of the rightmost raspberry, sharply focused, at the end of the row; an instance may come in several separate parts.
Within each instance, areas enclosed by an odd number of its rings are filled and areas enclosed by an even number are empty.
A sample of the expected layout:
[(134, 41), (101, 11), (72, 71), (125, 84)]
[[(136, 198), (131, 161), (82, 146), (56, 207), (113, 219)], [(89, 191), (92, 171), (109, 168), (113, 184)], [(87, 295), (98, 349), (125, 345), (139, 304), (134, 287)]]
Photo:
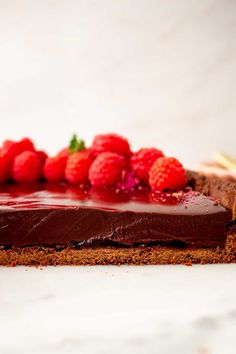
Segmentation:
[(186, 183), (186, 171), (174, 157), (160, 157), (149, 171), (149, 184), (154, 190), (182, 189)]

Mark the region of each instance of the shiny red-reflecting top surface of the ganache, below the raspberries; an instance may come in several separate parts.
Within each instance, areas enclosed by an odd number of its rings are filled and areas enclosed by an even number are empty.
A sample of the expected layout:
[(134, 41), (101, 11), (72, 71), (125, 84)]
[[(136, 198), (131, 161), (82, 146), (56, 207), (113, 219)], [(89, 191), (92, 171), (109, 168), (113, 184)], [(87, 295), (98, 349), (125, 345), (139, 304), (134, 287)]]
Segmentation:
[[(51, 206), (79, 206), (86, 203), (90, 206), (101, 207), (107, 205), (110, 208), (119, 209), (137, 203), (142, 209), (143, 204), (148, 210), (155, 210), (158, 206), (188, 207), (193, 204), (202, 208), (203, 206), (215, 206), (215, 200), (205, 197), (198, 192), (186, 188), (184, 191), (159, 192), (150, 191), (145, 187), (137, 189), (123, 188), (91, 188), (68, 186), (67, 184), (31, 183), (31, 184), (6, 184), (0, 186), (0, 209), (6, 206), (12, 208), (47, 208)], [(132, 209), (132, 208), (131, 208)]]

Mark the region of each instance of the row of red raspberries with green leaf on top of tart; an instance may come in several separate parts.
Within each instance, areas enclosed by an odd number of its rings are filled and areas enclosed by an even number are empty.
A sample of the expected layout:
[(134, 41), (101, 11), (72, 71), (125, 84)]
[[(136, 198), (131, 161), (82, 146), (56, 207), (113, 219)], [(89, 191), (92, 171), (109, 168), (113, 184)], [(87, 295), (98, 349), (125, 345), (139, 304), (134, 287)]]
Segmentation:
[(156, 148), (132, 153), (127, 139), (117, 134), (97, 135), (89, 148), (74, 135), (70, 145), (53, 157), (37, 150), (28, 138), (6, 140), (0, 148), (0, 183), (41, 179), (73, 185), (90, 183), (93, 187), (146, 185), (159, 191), (183, 189), (187, 182), (177, 159), (165, 157)]

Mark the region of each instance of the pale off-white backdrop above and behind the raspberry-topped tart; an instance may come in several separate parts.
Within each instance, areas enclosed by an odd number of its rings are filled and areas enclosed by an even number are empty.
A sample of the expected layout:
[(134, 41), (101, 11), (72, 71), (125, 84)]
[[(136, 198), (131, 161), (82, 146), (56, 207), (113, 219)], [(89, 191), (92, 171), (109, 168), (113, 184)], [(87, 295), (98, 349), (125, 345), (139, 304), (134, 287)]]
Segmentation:
[(126, 135), (184, 163), (235, 153), (236, 2), (0, 0), (0, 140)]

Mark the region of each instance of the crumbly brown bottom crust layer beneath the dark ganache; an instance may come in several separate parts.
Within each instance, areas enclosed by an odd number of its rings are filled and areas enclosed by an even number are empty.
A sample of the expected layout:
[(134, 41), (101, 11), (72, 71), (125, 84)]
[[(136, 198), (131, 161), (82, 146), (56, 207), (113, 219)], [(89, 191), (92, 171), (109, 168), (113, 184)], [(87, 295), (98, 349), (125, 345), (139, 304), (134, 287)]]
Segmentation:
[(0, 265), (144, 265), (236, 263), (236, 235), (227, 237), (225, 247), (217, 249), (179, 249), (153, 247), (24, 247), (0, 251)]

